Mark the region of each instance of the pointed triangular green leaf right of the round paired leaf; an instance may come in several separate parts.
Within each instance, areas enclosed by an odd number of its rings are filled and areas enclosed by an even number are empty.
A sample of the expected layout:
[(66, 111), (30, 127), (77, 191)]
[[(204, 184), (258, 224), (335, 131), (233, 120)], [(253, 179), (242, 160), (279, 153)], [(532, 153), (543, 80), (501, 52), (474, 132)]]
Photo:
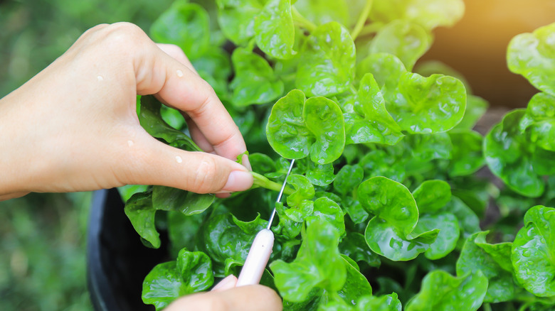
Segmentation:
[(354, 112), (345, 113), (347, 143), (396, 144), (402, 137), (401, 128), (386, 110), (376, 80), (366, 74), (360, 82), (354, 101)]

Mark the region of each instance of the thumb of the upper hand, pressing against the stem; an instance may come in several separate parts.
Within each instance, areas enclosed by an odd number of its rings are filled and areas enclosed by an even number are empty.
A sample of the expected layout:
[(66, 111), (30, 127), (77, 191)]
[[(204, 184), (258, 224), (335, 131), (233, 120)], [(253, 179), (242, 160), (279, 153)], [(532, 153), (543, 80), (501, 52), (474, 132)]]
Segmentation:
[(127, 143), (132, 160), (126, 161), (123, 180), (130, 185), (164, 185), (196, 193), (247, 190), (253, 175), (239, 163), (204, 152), (183, 151), (149, 136)]

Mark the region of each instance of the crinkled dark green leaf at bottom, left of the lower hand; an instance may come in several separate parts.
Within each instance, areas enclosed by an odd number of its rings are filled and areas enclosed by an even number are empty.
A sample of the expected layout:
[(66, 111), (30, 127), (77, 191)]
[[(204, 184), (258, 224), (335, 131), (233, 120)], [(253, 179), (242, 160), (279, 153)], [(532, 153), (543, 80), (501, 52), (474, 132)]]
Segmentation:
[(144, 278), (142, 301), (162, 310), (177, 298), (206, 290), (214, 282), (212, 263), (201, 251), (179, 251), (176, 261), (159, 263)]

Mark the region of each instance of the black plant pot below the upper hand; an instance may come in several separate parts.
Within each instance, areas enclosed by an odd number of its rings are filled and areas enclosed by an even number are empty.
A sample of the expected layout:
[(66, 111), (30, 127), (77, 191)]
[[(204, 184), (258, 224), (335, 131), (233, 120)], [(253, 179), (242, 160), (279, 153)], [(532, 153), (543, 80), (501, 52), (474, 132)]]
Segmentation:
[(160, 249), (144, 246), (123, 211), (117, 189), (99, 190), (87, 232), (87, 283), (96, 311), (154, 310), (141, 300), (142, 280), (167, 257), (166, 243)]

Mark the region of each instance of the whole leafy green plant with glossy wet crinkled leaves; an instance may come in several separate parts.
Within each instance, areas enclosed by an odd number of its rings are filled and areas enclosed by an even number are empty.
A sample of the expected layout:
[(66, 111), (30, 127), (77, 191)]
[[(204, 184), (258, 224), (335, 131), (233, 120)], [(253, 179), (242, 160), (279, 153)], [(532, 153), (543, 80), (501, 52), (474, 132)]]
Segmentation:
[[(255, 183), (225, 200), (121, 189), (144, 244), (176, 258), (147, 275), (145, 303), (161, 310), (237, 275), (275, 207), (261, 283), (285, 310), (552, 310), (555, 24), (512, 40), (509, 68), (541, 92), (482, 137), (472, 127), (487, 102), (445, 65), (415, 66), (462, 0), (205, 6), (174, 2), (151, 36), (181, 46), (216, 90)], [(176, 111), (154, 97), (137, 109), (152, 136), (201, 151)], [(485, 165), (503, 187), (478, 177)], [(481, 227), (490, 200), (499, 219)]]

